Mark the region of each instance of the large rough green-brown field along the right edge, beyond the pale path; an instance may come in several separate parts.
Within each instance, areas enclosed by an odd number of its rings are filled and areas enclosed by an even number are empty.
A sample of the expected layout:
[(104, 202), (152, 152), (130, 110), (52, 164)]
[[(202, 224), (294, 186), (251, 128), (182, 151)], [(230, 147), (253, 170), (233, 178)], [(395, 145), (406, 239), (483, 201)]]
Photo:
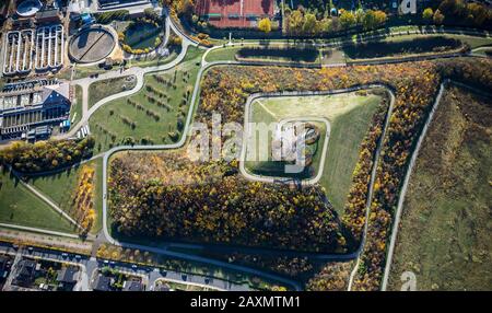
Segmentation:
[(389, 290), (492, 289), (492, 106), (450, 88), (429, 128), (403, 204)]

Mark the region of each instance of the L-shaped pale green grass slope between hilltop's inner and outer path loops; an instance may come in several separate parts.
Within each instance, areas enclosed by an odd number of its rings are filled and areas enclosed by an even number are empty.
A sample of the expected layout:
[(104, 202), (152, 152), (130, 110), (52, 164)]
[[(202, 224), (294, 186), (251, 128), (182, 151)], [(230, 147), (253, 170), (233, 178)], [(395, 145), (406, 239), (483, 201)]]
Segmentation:
[[(372, 116), (382, 102), (378, 95), (355, 93), (331, 96), (302, 96), (260, 100), (251, 105), (253, 121), (279, 121), (285, 118), (317, 116), (330, 121), (327, 159), (320, 179), (328, 199), (341, 212), (349, 193), (361, 142)], [(320, 153), (317, 153), (320, 154)], [(314, 159), (314, 166), (316, 166)], [(248, 171), (255, 164), (245, 164)]]

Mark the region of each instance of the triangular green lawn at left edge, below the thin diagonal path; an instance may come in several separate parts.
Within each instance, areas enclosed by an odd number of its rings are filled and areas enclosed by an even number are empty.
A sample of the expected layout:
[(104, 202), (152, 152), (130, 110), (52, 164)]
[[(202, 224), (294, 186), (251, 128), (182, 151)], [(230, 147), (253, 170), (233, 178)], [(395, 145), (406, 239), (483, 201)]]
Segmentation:
[(9, 172), (0, 172), (0, 222), (73, 233), (72, 224)]

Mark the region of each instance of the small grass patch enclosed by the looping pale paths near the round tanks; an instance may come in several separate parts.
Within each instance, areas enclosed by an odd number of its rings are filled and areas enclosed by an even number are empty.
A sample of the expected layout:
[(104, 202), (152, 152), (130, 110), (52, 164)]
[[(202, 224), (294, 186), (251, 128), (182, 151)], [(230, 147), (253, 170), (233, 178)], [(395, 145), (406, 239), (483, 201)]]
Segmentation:
[(106, 96), (133, 89), (136, 84), (137, 78), (134, 76), (121, 76), (93, 82), (89, 86), (89, 108)]

